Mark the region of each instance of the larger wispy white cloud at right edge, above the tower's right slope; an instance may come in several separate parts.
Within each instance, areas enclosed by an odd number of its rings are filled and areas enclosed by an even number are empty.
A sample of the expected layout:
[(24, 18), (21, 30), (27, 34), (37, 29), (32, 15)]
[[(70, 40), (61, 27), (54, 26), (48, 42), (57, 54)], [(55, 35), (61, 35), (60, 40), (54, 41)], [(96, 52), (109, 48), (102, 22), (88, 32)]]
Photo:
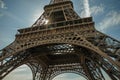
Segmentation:
[(106, 17), (98, 24), (101, 31), (120, 24), (120, 11), (110, 11)]

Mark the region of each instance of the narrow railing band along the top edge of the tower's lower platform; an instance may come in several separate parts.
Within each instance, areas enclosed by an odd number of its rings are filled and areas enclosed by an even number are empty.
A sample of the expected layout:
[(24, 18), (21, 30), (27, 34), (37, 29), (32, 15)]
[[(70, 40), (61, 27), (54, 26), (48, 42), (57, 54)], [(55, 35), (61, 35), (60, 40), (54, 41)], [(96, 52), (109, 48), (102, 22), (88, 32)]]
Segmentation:
[(18, 30), (18, 32), (19, 34), (22, 34), (22, 33), (27, 33), (27, 32), (34, 32), (37, 30), (53, 29), (53, 28), (64, 27), (68, 25), (85, 24), (89, 22), (92, 22), (92, 17), (77, 19), (77, 20), (70, 20), (70, 21), (61, 21), (61, 22), (56, 22), (54, 24), (47, 24), (47, 25), (42, 25), (42, 26), (20, 29)]

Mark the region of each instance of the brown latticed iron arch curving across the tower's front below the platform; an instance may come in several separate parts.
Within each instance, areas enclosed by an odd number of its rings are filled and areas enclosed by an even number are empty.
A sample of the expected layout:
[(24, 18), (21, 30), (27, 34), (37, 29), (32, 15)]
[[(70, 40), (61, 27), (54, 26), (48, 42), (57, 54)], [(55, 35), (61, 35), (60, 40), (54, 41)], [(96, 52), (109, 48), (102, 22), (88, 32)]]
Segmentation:
[[(118, 69), (120, 69), (120, 63), (115, 62), (112, 60), (105, 52), (101, 51), (98, 47), (94, 46), (92, 43), (87, 41), (83, 36), (77, 34), (77, 33), (71, 33), (71, 34), (55, 34), (55, 35), (46, 35), (42, 37), (38, 37), (38, 39), (33, 39), (30, 42), (27, 41), (25, 44), (22, 44), (23, 47), (19, 47), (19, 50), (25, 50), (28, 48), (36, 47), (39, 45), (44, 44), (53, 44), (53, 43), (66, 43), (66, 44), (73, 44), (77, 46), (82, 46), (84, 48), (90, 49), (96, 54), (99, 54), (100, 56), (108, 59), (112, 64), (116, 65)], [(18, 51), (19, 51), (18, 50)]]

